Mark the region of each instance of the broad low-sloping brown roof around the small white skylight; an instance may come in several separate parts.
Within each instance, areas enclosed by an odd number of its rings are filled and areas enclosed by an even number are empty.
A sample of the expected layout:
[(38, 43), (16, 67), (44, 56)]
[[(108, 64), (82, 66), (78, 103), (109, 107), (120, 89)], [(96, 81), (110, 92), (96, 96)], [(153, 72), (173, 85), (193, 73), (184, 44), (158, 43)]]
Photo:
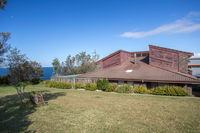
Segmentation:
[[(142, 62), (142, 59), (144, 57), (137, 58), (136, 64), (127, 60), (121, 65), (98, 69), (78, 77), (142, 82), (200, 83), (200, 80), (192, 75), (157, 68)], [(127, 70), (132, 70), (132, 72), (126, 72)]]

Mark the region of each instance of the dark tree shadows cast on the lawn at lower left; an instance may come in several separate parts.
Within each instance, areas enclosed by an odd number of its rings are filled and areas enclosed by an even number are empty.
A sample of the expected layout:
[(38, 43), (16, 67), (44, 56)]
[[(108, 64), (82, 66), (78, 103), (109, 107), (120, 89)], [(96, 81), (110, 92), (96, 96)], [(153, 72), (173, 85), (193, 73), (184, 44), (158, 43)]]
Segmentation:
[[(64, 92), (46, 93), (43, 95), (45, 101), (53, 100), (59, 96), (65, 96)], [(48, 106), (48, 105), (45, 105)], [(0, 132), (29, 132), (28, 126), (32, 124), (28, 115), (36, 111), (36, 106), (22, 105), (18, 96), (8, 95), (0, 98)]]

